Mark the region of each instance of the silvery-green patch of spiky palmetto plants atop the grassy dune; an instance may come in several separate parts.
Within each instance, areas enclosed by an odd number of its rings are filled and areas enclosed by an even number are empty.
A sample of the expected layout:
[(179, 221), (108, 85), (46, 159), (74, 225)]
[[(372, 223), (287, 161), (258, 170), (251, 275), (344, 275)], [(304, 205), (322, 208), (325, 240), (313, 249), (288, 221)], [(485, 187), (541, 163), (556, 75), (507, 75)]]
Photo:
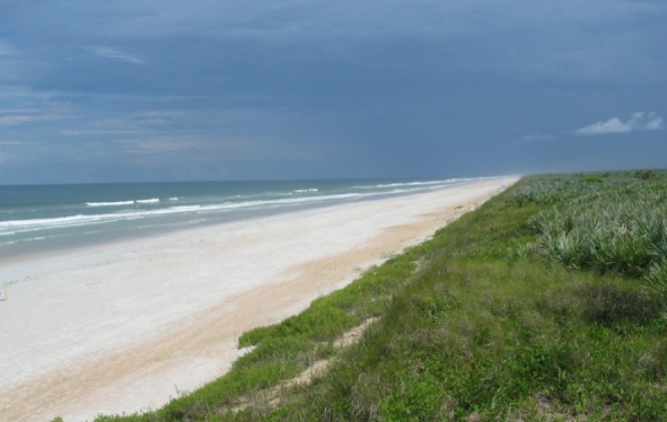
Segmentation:
[(665, 184), (634, 175), (560, 175), (536, 178), (511, 193), (509, 201), (519, 205), (554, 203), (528, 222), (538, 234), (529, 249), (539, 255), (568, 268), (631, 277), (653, 268), (659, 273), (667, 261)]

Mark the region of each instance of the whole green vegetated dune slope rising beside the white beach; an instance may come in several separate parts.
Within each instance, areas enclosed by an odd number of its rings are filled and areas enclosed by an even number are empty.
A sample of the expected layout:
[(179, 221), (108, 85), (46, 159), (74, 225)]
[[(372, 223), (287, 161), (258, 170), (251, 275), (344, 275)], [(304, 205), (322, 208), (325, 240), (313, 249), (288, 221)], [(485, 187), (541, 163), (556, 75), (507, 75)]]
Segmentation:
[(98, 421), (661, 420), (666, 224), (667, 171), (525, 178), (243, 334), (249, 352), (219, 380)]

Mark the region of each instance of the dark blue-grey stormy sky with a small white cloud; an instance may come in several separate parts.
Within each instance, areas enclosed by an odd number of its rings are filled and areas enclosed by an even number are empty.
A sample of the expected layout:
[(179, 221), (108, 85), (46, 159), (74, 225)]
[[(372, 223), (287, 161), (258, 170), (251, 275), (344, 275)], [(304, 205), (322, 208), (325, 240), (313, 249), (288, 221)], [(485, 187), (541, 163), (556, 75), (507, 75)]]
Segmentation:
[(664, 0), (2, 0), (0, 184), (666, 168), (665, 22)]

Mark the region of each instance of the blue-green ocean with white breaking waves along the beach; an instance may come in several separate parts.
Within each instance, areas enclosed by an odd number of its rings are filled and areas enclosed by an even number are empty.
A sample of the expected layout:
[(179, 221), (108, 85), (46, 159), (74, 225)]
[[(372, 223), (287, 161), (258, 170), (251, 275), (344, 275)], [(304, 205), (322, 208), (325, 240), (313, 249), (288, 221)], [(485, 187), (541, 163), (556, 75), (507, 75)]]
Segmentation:
[(485, 179), (0, 185), (0, 262), (197, 224), (412, 194)]

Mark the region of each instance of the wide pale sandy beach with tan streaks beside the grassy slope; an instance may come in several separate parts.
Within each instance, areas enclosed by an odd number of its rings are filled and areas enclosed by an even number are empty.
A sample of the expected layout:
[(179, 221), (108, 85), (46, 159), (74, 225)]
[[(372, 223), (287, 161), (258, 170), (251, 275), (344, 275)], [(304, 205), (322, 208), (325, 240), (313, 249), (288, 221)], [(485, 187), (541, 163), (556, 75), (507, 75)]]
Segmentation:
[(516, 180), (3, 264), (0, 420), (159, 408), (223, 374), (243, 331), (297, 313)]

